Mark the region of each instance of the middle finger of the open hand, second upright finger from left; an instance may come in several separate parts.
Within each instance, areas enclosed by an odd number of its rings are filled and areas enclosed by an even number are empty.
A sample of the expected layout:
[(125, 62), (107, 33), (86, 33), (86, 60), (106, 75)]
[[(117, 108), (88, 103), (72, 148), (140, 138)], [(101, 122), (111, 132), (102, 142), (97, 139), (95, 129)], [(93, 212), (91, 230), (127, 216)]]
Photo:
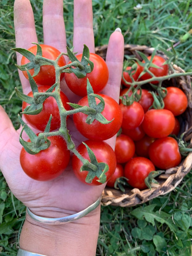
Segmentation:
[(63, 0), (44, 0), (42, 8), (44, 44), (66, 52), (66, 30), (63, 18)]

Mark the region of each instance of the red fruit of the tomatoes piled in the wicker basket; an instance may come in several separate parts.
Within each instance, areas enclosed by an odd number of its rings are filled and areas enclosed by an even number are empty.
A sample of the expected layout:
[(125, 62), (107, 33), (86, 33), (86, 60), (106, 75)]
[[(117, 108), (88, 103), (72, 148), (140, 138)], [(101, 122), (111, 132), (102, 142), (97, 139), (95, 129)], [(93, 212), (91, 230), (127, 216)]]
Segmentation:
[[(151, 57), (147, 59), (150, 60)], [(152, 62), (163, 67), (162, 69), (149, 68), (156, 77), (168, 74), (168, 65), (163, 65), (165, 59), (154, 56)], [(131, 71), (132, 78), (126, 72), (127, 70)], [(135, 88), (136, 94), (141, 93), (138, 101), (127, 105), (122, 103), (122, 97), (130, 99), (134, 91), (134, 89), (130, 90), (130, 84), (126, 84), (125, 80), (132, 82), (152, 77), (149, 74), (143, 75), (143, 70), (144, 68), (137, 64), (135, 71), (129, 67), (123, 72), (124, 79), (122, 78), (121, 81), (122, 90), (119, 100), (123, 121), (121, 133), (115, 145), (117, 167), (112, 179), (107, 183), (110, 187), (114, 187), (116, 179), (125, 177), (132, 187), (145, 189), (147, 188), (145, 178), (151, 172), (178, 166), (182, 159), (178, 141), (173, 136), (179, 134), (178, 117), (185, 112), (188, 104), (187, 97), (181, 89), (173, 86), (166, 87), (166, 96), (163, 97), (164, 108), (155, 109), (154, 97), (151, 93), (154, 88), (150, 83), (143, 83), (140, 90)]]

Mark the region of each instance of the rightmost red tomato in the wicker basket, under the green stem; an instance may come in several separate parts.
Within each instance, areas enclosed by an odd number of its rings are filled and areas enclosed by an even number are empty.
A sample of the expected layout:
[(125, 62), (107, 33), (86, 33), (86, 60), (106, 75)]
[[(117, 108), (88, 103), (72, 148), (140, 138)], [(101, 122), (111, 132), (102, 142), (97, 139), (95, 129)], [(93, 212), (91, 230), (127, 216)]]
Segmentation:
[(184, 92), (177, 87), (167, 87), (164, 109), (170, 110), (174, 116), (183, 114), (187, 108), (188, 100)]

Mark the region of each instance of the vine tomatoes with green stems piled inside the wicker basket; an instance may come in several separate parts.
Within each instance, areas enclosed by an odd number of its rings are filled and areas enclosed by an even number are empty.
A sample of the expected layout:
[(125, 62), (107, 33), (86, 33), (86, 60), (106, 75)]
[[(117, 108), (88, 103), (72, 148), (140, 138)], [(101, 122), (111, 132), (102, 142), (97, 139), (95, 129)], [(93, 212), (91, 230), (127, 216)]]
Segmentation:
[[(191, 73), (176, 73), (171, 60), (156, 53), (138, 52), (125, 60), (119, 105), (123, 114), (115, 145), (117, 166), (107, 186), (125, 191), (156, 186), (157, 176), (178, 166), (191, 146), (180, 134), (179, 117), (188, 99), (169, 80)], [(166, 82), (165, 82), (166, 81)]]

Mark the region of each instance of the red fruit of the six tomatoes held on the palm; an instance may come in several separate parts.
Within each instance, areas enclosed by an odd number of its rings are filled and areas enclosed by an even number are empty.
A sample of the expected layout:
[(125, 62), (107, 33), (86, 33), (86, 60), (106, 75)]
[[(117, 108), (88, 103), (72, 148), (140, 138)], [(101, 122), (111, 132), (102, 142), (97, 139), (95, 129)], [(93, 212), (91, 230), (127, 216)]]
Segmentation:
[[(38, 51), (37, 45), (31, 47), (29, 51), (36, 54)], [(60, 55), (60, 52), (57, 49), (47, 45), (41, 45), (41, 51), (42, 57), (50, 58), (51, 60), (55, 60)], [(76, 59), (81, 61), (83, 59), (82, 54), (77, 55)], [(118, 102), (113, 98), (103, 94), (95, 95), (95, 93), (100, 92), (106, 86), (109, 78), (109, 71), (105, 61), (99, 55), (90, 53), (90, 61), (94, 63), (94, 68), (90, 73), (88, 72), (85, 77), (77, 78), (74, 73), (62, 72), (60, 79), (65, 78), (69, 89), (76, 95), (81, 96), (81, 99), (74, 103), (79, 107), (89, 106), (92, 108), (91, 111), (95, 110), (96, 112), (95, 116), (78, 111), (73, 114), (74, 125), (80, 134), (87, 139), (78, 145), (77, 152), (84, 160), (91, 161), (90, 154), (88, 153), (88, 146), (94, 153), (98, 165), (99, 163), (108, 165), (108, 170), (105, 172), (106, 182), (111, 178), (115, 171), (116, 156), (112, 147), (104, 142), (104, 140), (113, 137), (119, 131), (122, 123), (122, 112)], [(22, 65), (29, 65), (29, 62), (30, 60), (23, 56)], [(70, 63), (72, 63), (72, 61), (69, 61), (68, 67)], [(65, 58), (61, 56), (58, 61), (58, 66), (62, 67), (65, 65)], [(73, 68), (74, 67), (72, 66), (71, 69)], [(54, 69), (55, 67), (53, 67), (53, 65), (40, 66), (38, 74), (33, 77), (38, 86), (39, 93), (47, 93), (49, 88), (56, 82)], [(33, 75), (34, 72), (34, 69), (30, 69), (31, 75)], [(23, 71), (23, 73), (26, 78), (29, 77), (29, 74), (26, 71)], [(87, 79), (89, 79), (89, 82), (91, 83), (93, 95), (87, 95)], [(71, 108), (70, 104), (68, 104), (68, 97), (61, 91), (59, 93), (62, 106), (66, 111), (70, 111)], [(27, 97), (33, 97), (38, 103), (39, 98), (35, 98), (33, 91), (31, 91)], [(101, 98), (103, 102), (101, 102)], [(90, 99), (92, 101), (91, 104)], [(104, 103), (103, 109), (101, 103)], [(54, 97), (49, 96), (45, 99), (42, 103), (42, 110), (38, 114), (28, 113), (27, 111), (30, 107), (31, 105), (29, 103), (23, 101), (22, 109), (24, 117), (32, 127), (44, 132), (47, 123), (50, 120), (50, 116), (52, 115), (50, 132), (55, 132), (60, 129), (61, 116)], [(48, 139), (50, 140), (51, 145), (46, 150), (33, 155), (30, 154), (30, 152), (27, 152), (23, 147), (22, 152), (20, 153), (20, 164), (22, 165), (24, 172), (29, 177), (38, 181), (47, 181), (56, 178), (63, 172), (63, 170), (65, 170), (70, 162), (70, 150), (66, 140), (63, 139), (62, 136), (50, 136)], [(28, 142), (30, 142), (30, 140), (28, 140)], [(80, 181), (87, 183), (89, 168), (84, 169), (82, 158), (79, 158), (78, 154), (72, 154), (74, 174)], [(103, 168), (106, 165), (103, 165)], [(82, 168), (83, 171), (81, 170)], [(91, 182), (88, 183), (90, 185), (101, 184), (101, 182), (99, 182), (99, 177), (97, 176), (92, 177)]]

